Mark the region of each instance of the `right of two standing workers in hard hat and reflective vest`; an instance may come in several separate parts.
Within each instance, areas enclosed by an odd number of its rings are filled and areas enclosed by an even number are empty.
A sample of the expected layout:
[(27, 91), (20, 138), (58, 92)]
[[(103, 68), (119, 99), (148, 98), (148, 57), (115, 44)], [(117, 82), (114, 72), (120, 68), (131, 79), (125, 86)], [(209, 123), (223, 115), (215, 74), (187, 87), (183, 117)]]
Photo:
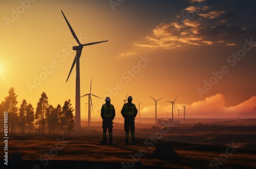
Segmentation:
[(124, 118), (124, 130), (125, 130), (125, 142), (124, 145), (129, 145), (129, 131), (131, 131), (131, 138), (133, 145), (135, 143), (135, 117), (138, 113), (138, 110), (134, 103), (132, 103), (133, 97), (128, 97), (128, 102), (123, 104), (121, 114)]

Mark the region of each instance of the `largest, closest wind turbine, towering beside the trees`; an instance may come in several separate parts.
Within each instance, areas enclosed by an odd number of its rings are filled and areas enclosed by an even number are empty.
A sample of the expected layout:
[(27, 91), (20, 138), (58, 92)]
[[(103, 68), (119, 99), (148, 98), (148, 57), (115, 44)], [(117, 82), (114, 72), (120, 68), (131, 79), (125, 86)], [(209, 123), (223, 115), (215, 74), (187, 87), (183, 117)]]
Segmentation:
[(83, 46), (89, 46), (89, 45), (94, 45), (94, 44), (99, 44), (99, 43), (103, 43), (105, 41), (109, 41), (109, 40), (104, 40), (104, 41), (96, 41), (94, 43), (89, 43), (89, 44), (81, 44), (80, 41), (78, 40), (74, 30), (72, 29), (71, 25), (68, 22), (68, 19), (66, 18), (66, 16), (64, 15), (64, 13), (61, 10), (62, 15), (64, 16), (69, 29), (73, 35), (73, 37), (76, 39), (77, 43), (79, 46), (73, 46), (73, 50), (76, 51), (76, 56), (74, 58), (73, 64), (71, 66), (68, 78), (66, 80), (66, 82), (69, 79), (69, 76), (76, 64), (76, 103), (75, 103), (75, 129), (80, 129), (81, 128), (81, 111), (80, 111), (80, 64), (79, 64), (79, 59), (82, 53), (82, 48)]

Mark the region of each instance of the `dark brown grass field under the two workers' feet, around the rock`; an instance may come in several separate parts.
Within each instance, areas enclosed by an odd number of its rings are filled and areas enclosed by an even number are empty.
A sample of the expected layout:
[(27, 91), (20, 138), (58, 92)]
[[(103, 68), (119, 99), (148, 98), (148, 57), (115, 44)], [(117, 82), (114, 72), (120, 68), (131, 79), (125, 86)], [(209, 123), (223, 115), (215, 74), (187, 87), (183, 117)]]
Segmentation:
[[(173, 168), (253, 168), (255, 131), (255, 127), (237, 126), (138, 128), (137, 145), (124, 146), (121, 125), (113, 131), (114, 145), (101, 145), (101, 128), (93, 127), (69, 136), (10, 135), (8, 153), (10, 157), (19, 153), (24, 160), (40, 160), (42, 164), (48, 160), (119, 163), (140, 160), (143, 165)], [(153, 157), (159, 145), (171, 147), (178, 158)]]

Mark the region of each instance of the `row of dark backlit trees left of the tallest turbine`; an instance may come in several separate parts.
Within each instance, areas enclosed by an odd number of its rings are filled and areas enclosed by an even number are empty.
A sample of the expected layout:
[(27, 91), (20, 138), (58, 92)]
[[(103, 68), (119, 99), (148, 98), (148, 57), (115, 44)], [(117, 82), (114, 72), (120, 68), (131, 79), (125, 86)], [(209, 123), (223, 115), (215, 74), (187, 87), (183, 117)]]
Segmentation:
[(42, 92), (34, 110), (26, 99), (22, 100), (18, 108), (14, 88), (11, 87), (8, 94), (0, 104), (0, 133), (4, 130), (4, 112), (8, 112), (8, 131), (10, 134), (30, 134), (31, 130), (37, 130), (39, 134), (69, 135), (73, 131), (75, 117), (70, 99), (66, 100), (62, 107), (60, 104), (53, 107), (48, 102), (47, 94)]

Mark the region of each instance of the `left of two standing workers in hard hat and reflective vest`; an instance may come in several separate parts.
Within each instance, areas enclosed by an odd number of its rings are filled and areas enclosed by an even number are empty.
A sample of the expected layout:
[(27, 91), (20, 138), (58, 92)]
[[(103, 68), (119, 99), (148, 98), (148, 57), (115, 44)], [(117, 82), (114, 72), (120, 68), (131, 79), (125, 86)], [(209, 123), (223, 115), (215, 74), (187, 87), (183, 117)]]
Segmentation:
[(106, 130), (109, 130), (109, 141), (110, 145), (112, 145), (113, 141), (113, 119), (116, 116), (114, 105), (110, 103), (110, 98), (105, 98), (105, 104), (101, 107), (101, 118), (102, 118), (102, 129), (103, 129), (103, 144), (106, 144)]

